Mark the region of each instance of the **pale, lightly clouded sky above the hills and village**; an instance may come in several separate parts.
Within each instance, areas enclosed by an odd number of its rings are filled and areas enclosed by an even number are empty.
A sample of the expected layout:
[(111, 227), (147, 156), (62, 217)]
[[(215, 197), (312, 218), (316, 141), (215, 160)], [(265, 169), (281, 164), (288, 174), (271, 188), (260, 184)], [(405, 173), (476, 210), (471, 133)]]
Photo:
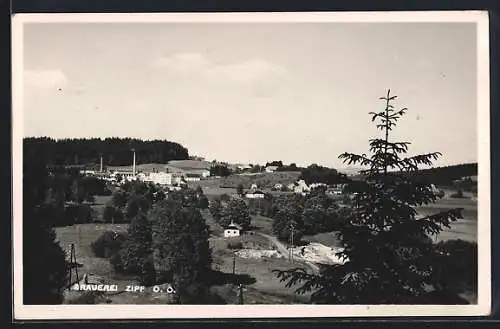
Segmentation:
[(167, 139), (231, 163), (340, 168), (392, 133), (477, 161), (474, 23), (29, 23), (24, 136)]

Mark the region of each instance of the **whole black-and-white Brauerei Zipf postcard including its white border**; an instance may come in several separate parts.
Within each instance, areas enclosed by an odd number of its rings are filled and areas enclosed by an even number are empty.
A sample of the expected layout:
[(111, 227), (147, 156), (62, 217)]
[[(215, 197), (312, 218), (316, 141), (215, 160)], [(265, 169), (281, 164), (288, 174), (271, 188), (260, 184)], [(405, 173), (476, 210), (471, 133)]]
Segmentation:
[(489, 313), (486, 13), (12, 26), (16, 318)]

